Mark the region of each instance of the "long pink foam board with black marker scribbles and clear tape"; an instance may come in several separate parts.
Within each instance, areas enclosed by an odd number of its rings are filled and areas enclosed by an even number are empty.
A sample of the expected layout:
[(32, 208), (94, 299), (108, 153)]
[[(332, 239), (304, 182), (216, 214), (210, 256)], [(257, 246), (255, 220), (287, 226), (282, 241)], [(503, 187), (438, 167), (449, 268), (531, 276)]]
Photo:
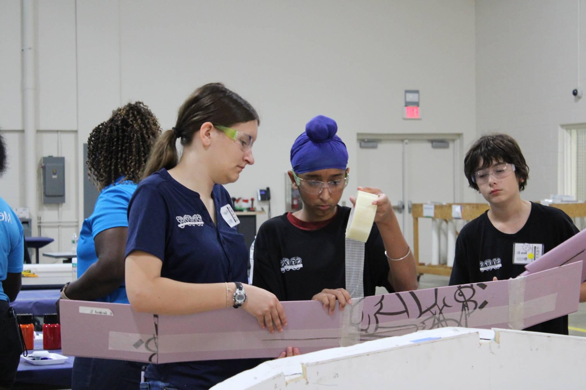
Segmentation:
[[(449, 326), (523, 329), (578, 309), (581, 269), (576, 262), (517, 279), (370, 296), (346, 310), (362, 306), (362, 320), (353, 324), (359, 342)], [(239, 309), (168, 316), (119, 303), (61, 300), (62, 349), (66, 355), (168, 363), (340, 346), (339, 310), (329, 316), (316, 301), (282, 305), (289, 324), (270, 334)]]

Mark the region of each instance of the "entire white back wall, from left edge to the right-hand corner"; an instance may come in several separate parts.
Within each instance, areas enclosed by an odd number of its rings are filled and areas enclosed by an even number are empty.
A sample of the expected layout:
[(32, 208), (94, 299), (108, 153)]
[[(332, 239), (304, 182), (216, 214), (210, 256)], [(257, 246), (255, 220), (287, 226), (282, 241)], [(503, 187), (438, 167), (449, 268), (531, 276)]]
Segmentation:
[[(66, 156), (66, 204), (40, 206), (44, 221), (80, 220), (81, 145), (114, 108), (142, 100), (171, 128), (183, 100), (211, 81), (261, 115), (256, 163), (228, 189), (253, 197), (271, 187), (274, 215), (285, 210), (289, 149), (314, 115), (336, 119), (353, 172), (357, 132), (461, 133), (466, 145), (476, 135), (472, 0), (59, 0), (38, 2), (37, 13), (39, 146), (30, 156), (22, 144), (20, 3), (0, 3), (0, 127), (9, 130), (13, 167), (0, 196), (25, 206), (24, 158)], [(405, 89), (421, 91), (423, 120), (401, 118)], [(350, 188), (358, 183), (352, 176)], [(61, 249), (70, 237), (62, 231)]]

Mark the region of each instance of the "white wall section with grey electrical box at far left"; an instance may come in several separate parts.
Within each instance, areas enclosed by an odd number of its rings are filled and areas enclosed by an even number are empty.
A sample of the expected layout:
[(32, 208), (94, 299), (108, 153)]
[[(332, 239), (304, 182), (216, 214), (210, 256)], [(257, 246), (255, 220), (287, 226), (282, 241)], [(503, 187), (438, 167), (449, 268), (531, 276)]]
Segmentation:
[[(0, 128), (6, 138), (9, 169), (0, 178), (0, 196), (12, 207), (25, 203), (25, 159), (64, 156), (66, 203), (42, 204), (40, 169), (37, 175), (42, 235), (55, 238), (41, 252), (68, 251), (71, 235), (79, 232), (77, 184), (76, 18), (73, 0), (36, 2), (36, 150), (24, 144), (21, 84), (21, 2), (0, 4)], [(34, 216), (36, 218), (36, 215)], [(33, 235), (37, 235), (36, 229)], [(53, 260), (49, 260), (53, 262)]]

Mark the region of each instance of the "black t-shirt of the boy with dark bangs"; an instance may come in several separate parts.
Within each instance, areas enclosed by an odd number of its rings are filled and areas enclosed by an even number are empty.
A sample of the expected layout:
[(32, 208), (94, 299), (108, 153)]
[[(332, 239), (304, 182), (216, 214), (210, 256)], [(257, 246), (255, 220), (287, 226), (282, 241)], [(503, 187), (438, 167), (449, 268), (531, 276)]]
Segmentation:
[[(515, 243), (543, 244), (543, 253), (557, 247), (578, 232), (574, 223), (558, 208), (531, 203), (525, 225), (515, 234), (493, 226), (488, 211), (466, 224), (456, 240), (456, 255), (449, 285), (491, 282), (516, 278), (524, 265), (513, 264)], [(568, 334), (568, 316), (536, 324), (526, 330)]]

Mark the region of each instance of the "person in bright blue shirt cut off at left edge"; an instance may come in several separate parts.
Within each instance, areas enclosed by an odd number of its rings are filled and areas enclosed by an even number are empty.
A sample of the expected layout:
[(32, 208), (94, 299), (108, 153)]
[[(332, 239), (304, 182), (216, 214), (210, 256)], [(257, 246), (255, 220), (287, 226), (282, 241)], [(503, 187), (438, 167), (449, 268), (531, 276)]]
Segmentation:
[[(8, 158), (0, 132), (0, 176)], [(18, 368), (22, 345), (10, 302), (21, 290), (25, 247), (22, 225), (12, 208), (0, 198), (0, 389), (11, 388)]]

